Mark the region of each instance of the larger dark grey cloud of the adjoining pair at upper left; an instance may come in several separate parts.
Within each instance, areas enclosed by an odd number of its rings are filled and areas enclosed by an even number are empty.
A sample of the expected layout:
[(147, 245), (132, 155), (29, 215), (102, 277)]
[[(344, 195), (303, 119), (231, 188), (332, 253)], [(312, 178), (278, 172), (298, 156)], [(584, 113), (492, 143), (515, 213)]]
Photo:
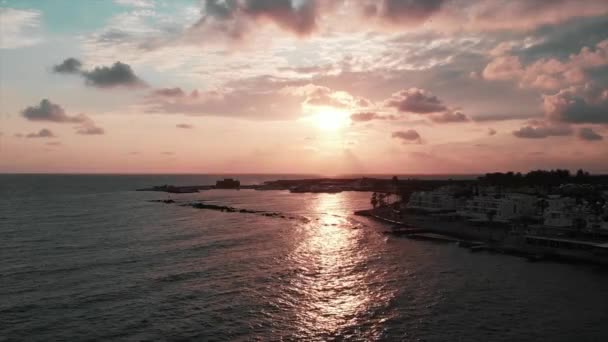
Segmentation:
[(116, 62), (112, 66), (95, 67), (91, 71), (83, 71), (86, 84), (98, 88), (117, 86), (141, 87), (145, 83), (135, 75), (128, 64)]

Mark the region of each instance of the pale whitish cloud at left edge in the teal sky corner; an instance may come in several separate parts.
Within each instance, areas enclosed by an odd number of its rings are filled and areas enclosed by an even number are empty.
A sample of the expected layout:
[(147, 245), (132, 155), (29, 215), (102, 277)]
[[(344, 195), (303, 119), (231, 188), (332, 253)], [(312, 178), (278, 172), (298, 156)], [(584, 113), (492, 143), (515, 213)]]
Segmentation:
[(0, 8), (0, 49), (18, 49), (39, 43), (41, 17), (37, 10)]

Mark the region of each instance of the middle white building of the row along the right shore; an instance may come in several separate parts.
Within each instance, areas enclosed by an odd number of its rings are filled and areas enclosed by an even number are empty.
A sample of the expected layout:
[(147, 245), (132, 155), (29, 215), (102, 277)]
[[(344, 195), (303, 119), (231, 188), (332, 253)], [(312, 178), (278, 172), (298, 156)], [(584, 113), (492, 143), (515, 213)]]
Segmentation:
[(536, 213), (536, 197), (525, 194), (481, 195), (467, 200), (458, 214), (477, 221), (507, 222)]

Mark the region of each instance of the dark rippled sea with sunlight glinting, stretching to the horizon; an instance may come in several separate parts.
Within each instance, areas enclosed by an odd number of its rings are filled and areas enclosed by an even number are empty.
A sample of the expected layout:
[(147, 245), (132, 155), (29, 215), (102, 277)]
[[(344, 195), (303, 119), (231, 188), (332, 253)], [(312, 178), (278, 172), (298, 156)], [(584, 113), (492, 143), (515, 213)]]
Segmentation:
[(0, 341), (608, 341), (605, 269), (392, 237), (369, 193), (134, 191), (220, 177), (0, 175)]

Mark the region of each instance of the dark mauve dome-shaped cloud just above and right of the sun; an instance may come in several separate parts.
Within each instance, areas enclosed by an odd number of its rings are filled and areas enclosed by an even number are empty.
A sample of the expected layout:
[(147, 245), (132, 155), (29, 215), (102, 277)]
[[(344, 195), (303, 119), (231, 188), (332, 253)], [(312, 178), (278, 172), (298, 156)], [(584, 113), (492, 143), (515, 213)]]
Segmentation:
[(387, 102), (388, 107), (394, 107), (400, 112), (417, 114), (438, 113), (447, 107), (436, 96), (424, 89), (410, 88), (395, 93)]

